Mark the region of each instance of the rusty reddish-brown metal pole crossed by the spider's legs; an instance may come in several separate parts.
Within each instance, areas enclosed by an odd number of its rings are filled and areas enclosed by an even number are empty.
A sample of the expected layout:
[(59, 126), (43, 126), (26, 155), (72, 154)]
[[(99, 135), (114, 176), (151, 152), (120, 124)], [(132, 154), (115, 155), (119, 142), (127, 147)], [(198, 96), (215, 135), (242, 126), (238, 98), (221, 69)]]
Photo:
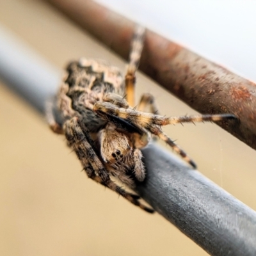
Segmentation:
[[(134, 23), (100, 4), (47, 0), (127, 60)], [(239, 124), (219, 125), (256, 149), (256, 84), (147, 31), (140, 70), (200, 113), (233, 113)]]

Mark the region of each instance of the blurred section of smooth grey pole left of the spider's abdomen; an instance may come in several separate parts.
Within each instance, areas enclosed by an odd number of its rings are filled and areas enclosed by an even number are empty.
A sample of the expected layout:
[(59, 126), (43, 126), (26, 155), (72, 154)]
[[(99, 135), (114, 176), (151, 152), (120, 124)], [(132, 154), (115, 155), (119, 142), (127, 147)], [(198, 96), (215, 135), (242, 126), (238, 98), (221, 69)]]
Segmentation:
[(47, 97), (56, 92), (60, 74), (60, 70), (0, 27), (0, 77), (41, 113)]

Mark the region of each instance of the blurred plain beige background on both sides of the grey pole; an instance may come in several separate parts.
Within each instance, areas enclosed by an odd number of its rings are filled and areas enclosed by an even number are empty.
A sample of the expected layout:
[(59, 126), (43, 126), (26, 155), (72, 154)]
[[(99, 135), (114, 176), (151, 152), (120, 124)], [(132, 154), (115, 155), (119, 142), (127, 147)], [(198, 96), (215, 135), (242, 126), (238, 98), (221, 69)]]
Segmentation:
[[(0, 0), (0, 25), (49, 63), (79, 56), (125, 63), (51, 6)], [(0, 56), (1, 58), (1, 56)], [(159, 214), (147, 214), (88, 180), (61, 136), (1, 83), (0, 255), (207, 255)], [(161, 113), (195, 113), (138, 74), (137, 100), (156, 95)], [(199, 170), (256, 209), (255, 151), (213, 124), (164, 129)]]

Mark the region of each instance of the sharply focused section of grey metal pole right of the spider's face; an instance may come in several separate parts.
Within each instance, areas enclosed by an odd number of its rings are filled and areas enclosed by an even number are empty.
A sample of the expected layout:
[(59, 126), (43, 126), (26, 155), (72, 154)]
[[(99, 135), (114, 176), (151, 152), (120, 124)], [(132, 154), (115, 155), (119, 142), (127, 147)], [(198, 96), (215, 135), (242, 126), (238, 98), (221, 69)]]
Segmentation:
[(210, 255), (256, 255), (252, 209), (159, 147), (143, 156), (148, 173), (138, 191), (157, 212)]

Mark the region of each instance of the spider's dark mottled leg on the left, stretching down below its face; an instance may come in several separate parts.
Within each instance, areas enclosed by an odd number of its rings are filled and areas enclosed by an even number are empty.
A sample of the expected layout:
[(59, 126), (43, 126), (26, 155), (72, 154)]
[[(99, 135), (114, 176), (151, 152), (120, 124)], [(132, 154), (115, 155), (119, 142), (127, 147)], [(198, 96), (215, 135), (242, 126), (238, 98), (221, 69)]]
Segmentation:
[(68, 145), (76, 152), (78, 159), (81, 161), (83, 168), (90, 179), (93, 179), (103, 186), (115, 191), (141, 209), (147, 212), (154, 212), (154, 210), (138, 201), (140, 196), (125, 191), (110, 179), (108, 170), (106, 170), (93, 149), (93, 140), (90, 138), (90, 132), (86, 129), (83, 123), (79, 122), (79, 118), (74, 117), (67, 120), (63, 129)]

